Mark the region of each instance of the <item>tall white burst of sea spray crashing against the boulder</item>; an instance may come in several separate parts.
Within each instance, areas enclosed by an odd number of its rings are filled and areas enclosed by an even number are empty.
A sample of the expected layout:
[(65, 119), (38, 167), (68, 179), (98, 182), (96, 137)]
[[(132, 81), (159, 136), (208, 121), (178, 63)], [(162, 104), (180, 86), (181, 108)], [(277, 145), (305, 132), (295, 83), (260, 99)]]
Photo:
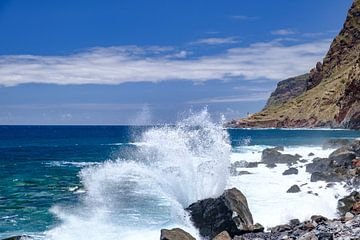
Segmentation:
[(126, 159), (80, 172), (86, 193), (78, 205), (52, 208), (61, 224), (48, 239), (158, 239), (163, 227), (195, 236), (183, 208), (220, 195), (231, 146), (226, 130), (203, 110), (175, 126), (154, 127)]

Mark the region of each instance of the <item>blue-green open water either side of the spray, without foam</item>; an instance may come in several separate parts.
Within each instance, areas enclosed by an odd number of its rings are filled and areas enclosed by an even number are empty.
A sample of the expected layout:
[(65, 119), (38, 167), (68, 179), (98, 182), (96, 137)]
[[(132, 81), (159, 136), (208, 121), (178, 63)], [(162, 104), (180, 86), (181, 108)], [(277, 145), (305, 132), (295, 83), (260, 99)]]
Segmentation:
[[(0, 126), (0, 237), (22, 233), (41, 235), (61, 225), (63, 219), (50, 209), (54, 206), (76, 209), (89, 197), (79, 191), (84, 188), (80, 171), (107, 160), (125, 161), (134, 156), (141, 145), (131, 143), (141, 142), (149, 129), (151, 127)], [(330, 138), (360, 137), (357, 131), (344, 130), (229, 129), (227, 132), (233, 152), (243, 145), (321, 145)], [(131, 183), (126, 188), (127, 195), (117, 196), (117, 200), (125, 198), (126, 202), (128, 196), (131, 199), (134, 191)], [(170, 221), (168, 209), (153, 217), (154, 211), (144, 211), (152, 209), (155, 200), (151, 194), (145, 194), (143, 199), (139, 196), (136, 195), (139, 202), (130, 202), (125, 207), (112, 205), (112, 209), (117, 208), (112, 214), (126, 216), (123, 210), (136, 206), (142, 208), (137, 214), (152, 219), (154, 223), (149, 225), (154, 228)], [(163, 203), (156, 206), (166, 208)], [(139, 223), (134, 221), (134, 226), (136, 224)]]

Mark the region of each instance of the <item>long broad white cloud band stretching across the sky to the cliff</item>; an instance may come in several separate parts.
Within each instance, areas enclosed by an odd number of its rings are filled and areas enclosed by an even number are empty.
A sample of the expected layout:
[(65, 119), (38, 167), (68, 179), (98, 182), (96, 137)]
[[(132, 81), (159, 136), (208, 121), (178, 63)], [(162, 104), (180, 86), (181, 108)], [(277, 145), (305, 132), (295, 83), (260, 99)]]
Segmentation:
[(309, 71), (321, 60), (330, 40), (291, 46), (265, 42), (230, 48), (221, 54), (169, 58), (179, 50), (136, 46), (95, 48), (67, 56), (0, 56), (0, 85), (22, 83), (121, 84), (190, 80), (281, 80)]

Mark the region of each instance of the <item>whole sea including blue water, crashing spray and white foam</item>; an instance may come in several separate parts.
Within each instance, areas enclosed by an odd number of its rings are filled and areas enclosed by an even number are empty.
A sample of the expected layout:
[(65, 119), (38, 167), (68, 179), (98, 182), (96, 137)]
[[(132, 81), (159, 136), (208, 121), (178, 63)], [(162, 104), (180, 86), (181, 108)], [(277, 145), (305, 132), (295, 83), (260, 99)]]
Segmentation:
[[(0, 126), (0, 239), (151, 240), (174, 227), (201, 239), (183, 209), (232, 187), (265, 227), (336, 217), (347, 188), (310, 182), (305, 164), (328, 157), (328, 139), (358, 137), (351, 130), (226, 129), (207, 111), (160, 126)], [(282, 175), (285, 164), (229, 174), (231, 163), (259, 162), (274, 146), (302, 156), (297, 175)], [(301, 192), (287, 193), (293, 184)]]

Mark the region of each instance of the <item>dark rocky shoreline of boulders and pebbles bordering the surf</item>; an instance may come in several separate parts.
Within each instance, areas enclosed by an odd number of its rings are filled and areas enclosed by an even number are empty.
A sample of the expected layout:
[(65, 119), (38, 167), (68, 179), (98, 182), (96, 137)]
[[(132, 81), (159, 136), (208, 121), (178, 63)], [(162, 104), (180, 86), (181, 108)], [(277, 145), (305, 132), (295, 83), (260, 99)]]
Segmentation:
[[(283, 147), (267, 148), (262, 151), (260, 162), (234, 162), (230, 168), (232, 175), (238, 176), (245, 171), (237, 168), (256, 168), (260, 164), (273, 168), (286, 164), (288, 169), (283, 175), (298, 174), (296, 164), (305, 163), (306, 172), (311, 174), (310, 181), (325, 181), (327, 187), (340, 182), (351, 194), (338, 199), (338, 217), (327, 219), (314, 215), (300, 222), (292, 219), (288, 223), (265, 229), (254, 223), (246, 196), (238, 189), (225, 190), (217, 198), (200, 200), (188, 206), (194, 226), (203, 239), (213, 240), (359, 240), (360, 239), (360, 140), (330, 139), (323, 148), (337, 148), (328, 158), (315, 158), (307, 163), (302, 156), (283, 154)], [(309, 156), (312, 156), (310, 153)], [(301, 191), (301, 186), (293, 185), (288, 193)], [(309, 194), (316, 194), (310, 193)], [(186, 231), (162, 229), (160, 240), (195, 240)], [(28, 236), (14, 236), (3, 240), (31, 239)]]

